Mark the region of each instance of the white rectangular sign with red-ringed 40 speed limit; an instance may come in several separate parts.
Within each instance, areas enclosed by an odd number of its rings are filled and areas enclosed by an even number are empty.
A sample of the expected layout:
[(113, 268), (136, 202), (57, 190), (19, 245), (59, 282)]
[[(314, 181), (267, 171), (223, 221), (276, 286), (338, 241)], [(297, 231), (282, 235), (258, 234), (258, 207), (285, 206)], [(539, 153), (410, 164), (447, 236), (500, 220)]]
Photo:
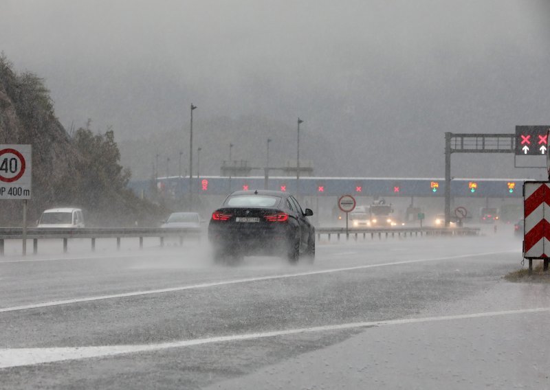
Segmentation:
[(30, 199), (30, 145), (0, 145), (0, 199)]

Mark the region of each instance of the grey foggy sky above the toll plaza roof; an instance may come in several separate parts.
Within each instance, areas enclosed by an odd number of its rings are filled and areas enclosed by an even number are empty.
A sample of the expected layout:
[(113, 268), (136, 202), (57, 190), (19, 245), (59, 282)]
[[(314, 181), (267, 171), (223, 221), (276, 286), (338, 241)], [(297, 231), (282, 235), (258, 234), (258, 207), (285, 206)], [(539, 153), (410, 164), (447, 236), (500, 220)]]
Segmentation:
[[(134, 171), (150, 172), (155, 151), (140, 165), (126, 140), (181, 131), (175, 148), (188, 149), (192, 102), (197, 142), (219, 118), (288, 132), (299, 116), (317, 175), (442, 176), (445, 131), (550, 124), (549, 15), (547, 1), (4, 0), (0, 50), (45, 78), (67, 129), (112, 126)], [(225, 156), (238, 130), (224, 130), (212, 131)], [(258, 145), (280, 132), (262, 130)], [(219, 146), (201, 146), (203, 174), (219, 174)], [(539, 171), (460, 156), (455, 174)]]

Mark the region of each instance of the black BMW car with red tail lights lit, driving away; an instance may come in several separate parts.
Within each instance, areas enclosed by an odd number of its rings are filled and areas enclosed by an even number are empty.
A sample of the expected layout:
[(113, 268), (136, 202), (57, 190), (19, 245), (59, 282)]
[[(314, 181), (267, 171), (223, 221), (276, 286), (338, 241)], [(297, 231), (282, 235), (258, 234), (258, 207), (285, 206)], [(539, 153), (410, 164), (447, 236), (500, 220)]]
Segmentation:
[(300, 255), (315, 257), (315, 228), (294, 196), (279, 191), (236, 191), (212, 213), (208, 239), (214, 259), (244, 255), (277, 255), (296, 263)]

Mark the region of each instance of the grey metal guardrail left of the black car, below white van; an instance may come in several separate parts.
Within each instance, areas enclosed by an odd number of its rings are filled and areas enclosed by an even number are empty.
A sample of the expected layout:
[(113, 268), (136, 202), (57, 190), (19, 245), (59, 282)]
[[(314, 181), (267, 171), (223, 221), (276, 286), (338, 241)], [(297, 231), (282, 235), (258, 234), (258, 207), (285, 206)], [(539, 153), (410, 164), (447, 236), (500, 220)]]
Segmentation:
[[(91, 251), (96, 249), (97, 238), (116, 238), (117, 249), (120, 249), (121, 238), (139, 238), (140, 249), (143, 249), (144, 237), (158, 237), (160, 245), (164, 246), (164, 238), (179, 237), (179, 242), (183, 243), (184, 237), (200, 238), (201, 229), (194, 227), (161, 228), (161, 227), (129, 227), (129, 228), (29, 228), (26, 238), (32, 240), (32, 252), (36, 255), (38, 252), (38, 240), (57, 238), (63, 240), (63, 252), (67, 252), (67, 242), (69, 238), (89, 238), (91, 239)], [(0, 228), (0, 255), (4, 254), (4, 240), (23, 240), (23, 228), (8, 227)], [(26, 255), (26, 245), (23, 245), (23, 255)]]

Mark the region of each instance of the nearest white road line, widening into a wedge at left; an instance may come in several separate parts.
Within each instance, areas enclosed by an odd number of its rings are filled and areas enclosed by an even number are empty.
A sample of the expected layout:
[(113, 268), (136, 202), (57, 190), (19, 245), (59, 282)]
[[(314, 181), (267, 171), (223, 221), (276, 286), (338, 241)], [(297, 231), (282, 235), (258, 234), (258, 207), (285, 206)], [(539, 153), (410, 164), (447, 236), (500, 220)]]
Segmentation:
[(142, 345), (105, 345), (99, 347), (52, 347), (52, 348), (4, 348), (0, 349), (0, 369), (19, 367), (24, 365), (39, 365), (42, 363), (59, 362), (63, 360), (77, 360), (84, 358), (100, 358), (120, 354), (132, 354), (137, 352), (150, 352), (159, 349), (178, 347), (190, 347), (211, 343), (224, 343), (230, 341), (244, 341), (251, 339), (263, 339), (266, 337), (288, 336), (292, 334), (327, 332), (333, 330), (349, 330), (367, 328), (373, 326), (406, 325), (409, 323), (426, 323), (433, 321), (452, 321), (461, 319), (478, 319), (483, 317), (496, 317), (511, 314), (532, 314), (550, 312), (550, 308), (530, 308), (521, 310), (504, 310), (500, 312), (481, 312), (472, 314), (459, 314), (441, 317), (425, 317), (413, 319), (395, 319), (388, 321), (366, 321), (355, 323), (342, 323), (338, 325), (323, 325), (311, 328), (298, 328), (287, 330), (275, 330), (272, 332), (259, 332), (249, 334), (233, 334), (230, 336), (208, 337), (206, 339), (171, 341), (169, 343), (142, 344)]

